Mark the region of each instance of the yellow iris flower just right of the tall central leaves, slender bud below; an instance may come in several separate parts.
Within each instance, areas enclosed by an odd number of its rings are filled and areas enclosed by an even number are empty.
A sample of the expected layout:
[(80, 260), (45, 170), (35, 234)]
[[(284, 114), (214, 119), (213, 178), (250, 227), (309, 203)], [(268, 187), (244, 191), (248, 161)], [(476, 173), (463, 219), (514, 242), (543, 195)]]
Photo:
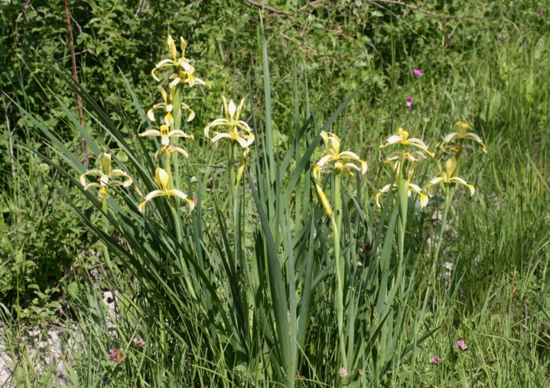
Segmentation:
[[(321, 154), (320, 160), (314, 167), (314, 177), (316, 180), (320, 181), (322, 173), (329, 173), (331, 171), (336, 171), (336, 173), (348, 171), (352, 175), (352, 170), (359, 171), (361, 175), (366, 173), (366, 162), (359, 158), (356, 153), (351, 151), (340, 152), (340, 139), (338, 136), (334, 133), (325, 131), (321, 131), (320, 135), (323, 142), (325, 142), (325, 152)], [(359, 162), (361, 166), (351, 162), (344, 163), (344, 159), (355, 160)]]

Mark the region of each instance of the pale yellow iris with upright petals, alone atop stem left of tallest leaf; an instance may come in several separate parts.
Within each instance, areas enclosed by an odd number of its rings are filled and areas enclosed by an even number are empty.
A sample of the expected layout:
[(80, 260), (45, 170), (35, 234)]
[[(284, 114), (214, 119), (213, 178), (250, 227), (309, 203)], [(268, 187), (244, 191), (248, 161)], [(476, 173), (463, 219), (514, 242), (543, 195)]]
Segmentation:
[(230, 127), (230, 132), (223, 133), (223, 132), (216, 132), (215, 136), (212, 138), (212, 142), (217, 142), (221, 138), (228, 138), (231, 140), (235, 140), (239, 144), (241, 144), (241, 147), (247, 148), (254, 142), (254, 132), (248, 124), (242, 120), (239, 120), (239, 116), (241, 116), (241, 109), (243, 109), (243, 104), (245, 103), (245, 99), (243, 98), (241, 100), (241, 103), (239, 104), (239, 107), (236, 107), (233, 100), (228, 101), (225, 99), (225, 97), (222, 97), (223, 99), (223, 111), (225, 111), (225, 118), (217, 118), (216, 120), (210, 122), (204, 129), (204, 136), (206, 138), (210, 138), (210, 128), (212, 127), (218, 127), (221, 125), (226, 125)]

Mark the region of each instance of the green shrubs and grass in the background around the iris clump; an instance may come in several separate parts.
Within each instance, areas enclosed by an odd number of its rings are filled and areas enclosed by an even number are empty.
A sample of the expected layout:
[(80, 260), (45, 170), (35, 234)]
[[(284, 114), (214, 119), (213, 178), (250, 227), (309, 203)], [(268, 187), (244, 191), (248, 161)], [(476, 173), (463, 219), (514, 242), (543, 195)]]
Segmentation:
[[(217, 117), (222, 95), (236, 100), (249, 96), (252, 90), (252, 105), (261, 109), (265, 101), (263, 94), (257, 93), (263, 89), (260, 14), (269, 54), (274, 144), (278, 144), (276, 151), (281, 157), (294, 139), (295, 69), (311, 106), (324, 102), (317, 114), (323, 122), (371, 77), (351, 100), (346, 125), (347, 144), (369, 162), (369, 172), (362, 180), (367, 202), (388, 182), (378, 145), (398, 127), (435, 147), (454, 122), (469, 122), (487, 143), (489, 154), (476, 155), (465, 169), (477, 193), (472, 200), (460, 197), (460, 213), (448, 229), (449, 244), (443, 255), (452, 266), (440, 268), (432, 278), (419, 275), (406, 296), (397, 301), (408, 309), (410, 322), (439, 329), (415, 347), (414, 355), (395, 367), (383, 384), (548, 385), (549, 2), (68, 3), (80, 83), (121, 133), (131, 133), (126, 119), (139, 122), (123, 76), (142, 106), (156, 102), (150, 72), (166, 53), (168, 33), (188, 41), (188, 57), (200, 69), (201, 78), (213, 85), (208, 91), (193, 89), (188, 96), (189, 103), (201, 107), (192, 123), (196, 138), (201, 137), (203, 126)], [(101, 291), (110, 286), (102, 275), (98, 237), (74, 216), (59, 191), (69, 193), (93, 219), (98, 216), (91, 204), (69, 181), (17, 143), (20, 140), (54, 157), (48, 140), (32, 122), (23, 119), (14, 102), (56, 133), (68, 149), (82, 155), (80, 133), (54, 99), (58, 96), (76, 111), (74, 92), (48, 65), (55, 61), (71, 68), (63, 4), (1, 1), (0, 31), (3, 350), (17, 360), (12, 365), (17, 371), (13, 381), (22, 386), (48, 386), (57, 383), (55, 368), (37, 367), (40, 357), (19, 338), (25, 338), (35, 325), (47, 330), (50, 325), (69, 327), (78, 322), (89, 305), (76, 300), (101, 299)], [(421, 69), (423, 76), (415, 76), (412, 69)], [(406, 108), (408, 95), (414, 98), (411, 109)], [(305, 94), (300, 94), (300, 103), (305, 104)], [(90, 132), (95, 128), (88, 111), (85, 128)], [(212, 151), (206, 140), (190, 147), (197, 164), (223, 162), (223, 153)], [(422, 228), (418, 226), (418, 230)], [(428, 263), (416, 261), (415, 265), (417, 273), (429, 272)], [(427, 287), (432, 294), (425, 301)], [(82, 292), (86, 298), (81, 297)], [(408, 335), (406, 326), (404, 337)], [(125, 329), (121, 326), (120, 330)], [(97, 337), (102, 338), (100, 334)], [(454, 352), (452, 343), (457, 338), (465, 338), (467, 352)], [(73, 341), (79, 345), (64, 348), (61, 357), (73, 385), (100, 385), (104, 376), (120, 374), (109, 363), (99, 363), (97, 354), (93, 358), (87, 352), (93, 343), (89, 338)], [(432, 354), (444, 362), (430, 364)], [(173, 368), (170, 381), (175, 384), (174, 376), (179, 376), (189, 384), (201, 385), (204, 377), (198, 375), (203, 372), (192, 367), (200, 365), (201, 358), (196, 354), (188, 357), (194, 361), (189, 361), (185, 373), (177, 372), (177, 364), (166, 366)], [(154, 356), (146, 359), (155, 362)], [(142, 365), (139, 358), (136, 362)], [(323, 378), (329, 386), (340, 384), (338, 365), (332, 367)], [(85, 383), (75, 377), (85, 374), (93, 375)], [(257, 374), (255, 378), (257, 383)], [(132, 375), (129, 380), (109, 383), (149, 386), (153, 385), (150, 379)], [(159, 386), (165, 384), (161, 380)]]

